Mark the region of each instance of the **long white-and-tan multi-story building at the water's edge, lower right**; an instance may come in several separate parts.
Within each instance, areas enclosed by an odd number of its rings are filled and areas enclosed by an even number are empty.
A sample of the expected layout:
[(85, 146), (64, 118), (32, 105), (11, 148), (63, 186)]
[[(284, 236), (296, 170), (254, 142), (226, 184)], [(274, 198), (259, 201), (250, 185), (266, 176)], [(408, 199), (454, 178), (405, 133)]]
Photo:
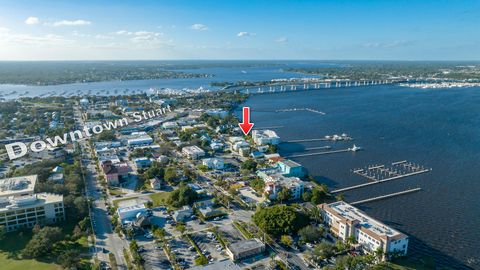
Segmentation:
[(354, 237), (366, 252), (407, 255), (408, 236), (375, 220), (358, 208), (338, 201), (319, 205), (330, 231), (342, 240)]

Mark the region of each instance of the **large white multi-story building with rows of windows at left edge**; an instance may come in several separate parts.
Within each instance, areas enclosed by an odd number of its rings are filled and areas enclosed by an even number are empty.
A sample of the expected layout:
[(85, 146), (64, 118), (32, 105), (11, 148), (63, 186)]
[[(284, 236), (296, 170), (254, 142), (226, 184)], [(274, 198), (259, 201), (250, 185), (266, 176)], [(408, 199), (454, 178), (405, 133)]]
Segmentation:
[(0, 179), (0, 226), (7, 231), (65, 220), (63, 195), (34, 193), (36, 175)]

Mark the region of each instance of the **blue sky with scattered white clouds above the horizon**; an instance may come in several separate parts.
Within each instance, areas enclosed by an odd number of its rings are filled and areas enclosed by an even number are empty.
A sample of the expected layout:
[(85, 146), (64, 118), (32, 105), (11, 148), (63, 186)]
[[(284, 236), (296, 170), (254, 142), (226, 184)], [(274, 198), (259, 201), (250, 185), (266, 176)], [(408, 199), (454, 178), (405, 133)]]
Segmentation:
[(480, 60), (480, 1), (0, 0), (0, 60)]

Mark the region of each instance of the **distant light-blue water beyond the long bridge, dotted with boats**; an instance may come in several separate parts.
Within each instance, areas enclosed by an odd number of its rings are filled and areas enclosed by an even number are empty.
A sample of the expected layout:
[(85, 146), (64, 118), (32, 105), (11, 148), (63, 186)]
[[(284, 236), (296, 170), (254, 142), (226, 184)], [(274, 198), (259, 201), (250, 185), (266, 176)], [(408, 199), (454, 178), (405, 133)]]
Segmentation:
[[(172, 62), (175, 63), (175, 62)], [(179, 62), (182, 64), (188, 62)], [(248, 65), (247, 62), (232, 62), (231, 67), (226, 67), (228, 62), (214, 61), (221, 64), (221, 67), (200, 67), (196, 69), (178, 69), (177, 71), (187, 73), (210, 74), (213, 77), (201, 78), (180, 78), (180, 79), (157, 79), (157, 80), (132, 80), (132, 81), (106, 81), (92, 83), (72, 83), (62, 85), (48, 86), (30, 86), (30, 85), (8, 85), (0, 84), (0, 94), (5, 99), (15, 99), (20, 95), (24, 97), (33, 97), (45, 95), (122, 95), (134, 93), (150, 93), (150, 88), (162, 89), (197, 89), (203, 87), (206, 89), (217, 90), (219, 87), (210, 86), (211, 82), (238, 82), (238, 81), (268, 81), (272, 79), (298, 78), (298, 77), (316, 77), (314, 75), (304, 75), (293, 72), (287, 72), (287, 68), (300, 67), (326, 67), (343, 66), (344, 63), (329, 63), (321, 61), (268, 61), (253, 62)], [(46, 63), (48, 64), (48, 63)], [(192, 65), (198, 65), (192, 61)], [(128, 92), (124, 92), (128, 89)], [(15, 93), (13, 93), (15, 92)]]

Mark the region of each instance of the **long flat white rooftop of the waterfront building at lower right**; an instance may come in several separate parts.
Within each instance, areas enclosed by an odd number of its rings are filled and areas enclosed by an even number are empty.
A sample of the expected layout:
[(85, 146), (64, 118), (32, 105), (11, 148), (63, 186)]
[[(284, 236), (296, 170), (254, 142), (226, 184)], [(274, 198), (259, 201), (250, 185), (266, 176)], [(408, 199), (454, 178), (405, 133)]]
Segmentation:
[(393, 236), (402, 234), (401, 232), (368, 216), (364, 212), (360, 211), (358, 208), (346, 202), (338, 201), (338, 202), (331, 203), (328, 206), (334, 211), (336, 211), (338, 214), (340, 214), (342, 217), (348, 220), (352, 220), (352, 221), (358, 220), (360, 226), (379, 236), (393, 237)]

